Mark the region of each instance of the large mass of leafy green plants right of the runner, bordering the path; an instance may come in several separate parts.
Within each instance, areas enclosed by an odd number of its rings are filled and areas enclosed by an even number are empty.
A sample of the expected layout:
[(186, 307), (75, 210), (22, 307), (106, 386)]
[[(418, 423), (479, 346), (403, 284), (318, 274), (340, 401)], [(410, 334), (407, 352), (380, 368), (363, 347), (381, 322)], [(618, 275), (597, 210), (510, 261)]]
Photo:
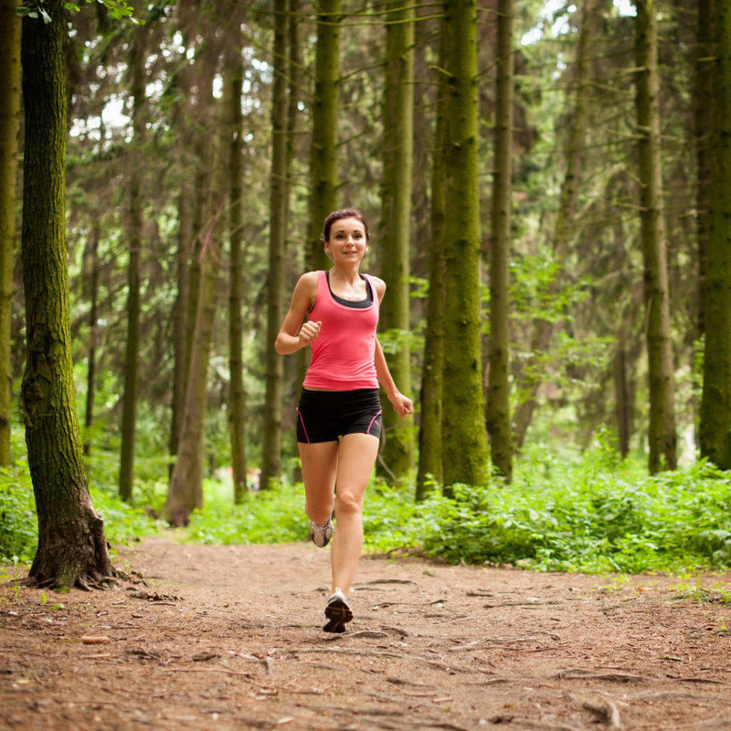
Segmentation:
[(641, 477), (629, 464), (608, 466), (607, 457), (600, 448), (574, 467), (550, 459), (524, 463), (512, 485), (455, 485), (452, 498), (432, 495), (402, 514), (409, 528), (393, 544), (379, 535), (369, 537), (371, 547), (405, 543), (452, 563), (544, 571), (731, 567), (726, 473), (699, 463)]

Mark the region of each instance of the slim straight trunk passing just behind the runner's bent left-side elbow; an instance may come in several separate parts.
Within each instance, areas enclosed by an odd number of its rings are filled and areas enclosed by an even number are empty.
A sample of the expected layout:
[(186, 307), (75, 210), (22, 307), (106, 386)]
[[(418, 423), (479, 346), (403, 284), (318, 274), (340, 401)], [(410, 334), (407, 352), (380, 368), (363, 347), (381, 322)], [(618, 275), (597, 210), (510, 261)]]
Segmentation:
[(267, 387), (264, 398), (264, 433), (260, 486), (281, 475), (281, 394), (284, 363), (274, 350), (284, 316), (284, 244), (287, 238), (287, 0), (274, 2), (274, 79), (271, 102), (271, 169), (269, 274), (267, 277)]

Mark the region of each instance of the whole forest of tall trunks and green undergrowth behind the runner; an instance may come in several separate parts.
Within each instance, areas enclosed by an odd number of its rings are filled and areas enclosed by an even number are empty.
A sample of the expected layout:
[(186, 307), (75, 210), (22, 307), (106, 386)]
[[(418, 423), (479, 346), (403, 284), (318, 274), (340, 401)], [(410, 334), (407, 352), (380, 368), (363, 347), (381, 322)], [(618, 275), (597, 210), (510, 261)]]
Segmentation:
[(356, 206), (415, 404), (384, 412), (372, 547), (731, 564), (725, 4), (0, 12), (5, 560), (109, 575), (93, 506), (107, 535), (301, 537), (305, 363), (273, 341)]

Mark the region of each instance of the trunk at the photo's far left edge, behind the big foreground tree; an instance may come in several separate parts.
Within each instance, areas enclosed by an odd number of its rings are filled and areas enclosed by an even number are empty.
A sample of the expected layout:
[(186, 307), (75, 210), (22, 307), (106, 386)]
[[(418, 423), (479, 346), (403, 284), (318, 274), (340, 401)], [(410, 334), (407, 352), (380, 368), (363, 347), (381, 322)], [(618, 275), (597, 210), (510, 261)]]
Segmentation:
[(20, 120), (20, 18), (0, 0), (0, 467), (10, 464), (10, 321), (16, 249), (17, 132)]

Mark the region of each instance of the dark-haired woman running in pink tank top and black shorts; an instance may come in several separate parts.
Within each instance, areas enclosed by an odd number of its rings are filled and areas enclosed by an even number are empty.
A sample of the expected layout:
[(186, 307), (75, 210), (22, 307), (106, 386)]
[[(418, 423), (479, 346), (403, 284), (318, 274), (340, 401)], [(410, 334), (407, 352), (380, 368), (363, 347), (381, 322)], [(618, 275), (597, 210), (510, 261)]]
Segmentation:
[(378, 384), (401, 418), (413, 405), (399, 393), (376, 338), (386, 283), (360, 273), (370, 243), (363, 214), (357, 208), (331, 213), (323, 242), (333, 267), (302, 274), (274, 347), (281, 355), (312, 347), (297, 408), (304, 511), (315, 546), (333, 538), (333, 593), (323, 630), (343, 632), (353, 619), (347, 596), (363, 546), (363, 498), (381, 433)]

